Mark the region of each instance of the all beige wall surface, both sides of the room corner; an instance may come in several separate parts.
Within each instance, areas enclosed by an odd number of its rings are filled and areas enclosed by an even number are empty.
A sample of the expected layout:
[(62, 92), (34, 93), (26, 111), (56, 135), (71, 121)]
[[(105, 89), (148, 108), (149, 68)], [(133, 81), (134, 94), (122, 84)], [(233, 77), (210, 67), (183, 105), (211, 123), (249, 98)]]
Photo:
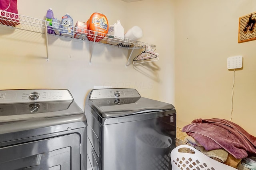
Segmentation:
[(86, 21), (101, 11), (125, 30), (138, 25), (144, 32), (140, 41), (156, 44), (160, 60), (126, 68), (130, 50), (96, 44), (89, 65), (92, 43), (49, 36), (46, 62), (44, 34), (0, 26), (0, 89), (67, 88), (83, 109), (94, 86), (136, 88), (144, 97), (174, 104), (182, 128), (195, 118), (230, 120), (234, 72), (227, 69), (227, 58), (242, 55), (232, 121), (256, 135), (256, 41), (238, 44), (238, 18), (256, 11), (254, 0), (18, 1), (20, 14), (39, 19), (49, 7), (59, 19), (68, 12), (74, 22)]

